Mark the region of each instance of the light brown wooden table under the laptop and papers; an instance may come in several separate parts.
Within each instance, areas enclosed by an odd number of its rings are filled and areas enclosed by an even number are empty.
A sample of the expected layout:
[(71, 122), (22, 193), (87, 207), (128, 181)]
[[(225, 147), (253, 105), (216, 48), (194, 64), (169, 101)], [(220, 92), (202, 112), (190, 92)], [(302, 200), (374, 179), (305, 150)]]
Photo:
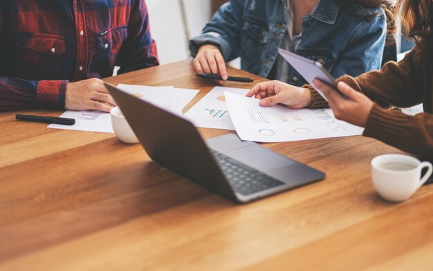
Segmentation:
[[(200, 89), (188, 107), (214, 87), (188, 61), (107, 81)], [(381, 200), (369, 163), (399, 151), (374, 139), (266, 144), (327, 177), (237, 205), (154, 164), (139, 144), (15, 113), (0, 114), (0, 270), (432, 269), (433, 186)]]

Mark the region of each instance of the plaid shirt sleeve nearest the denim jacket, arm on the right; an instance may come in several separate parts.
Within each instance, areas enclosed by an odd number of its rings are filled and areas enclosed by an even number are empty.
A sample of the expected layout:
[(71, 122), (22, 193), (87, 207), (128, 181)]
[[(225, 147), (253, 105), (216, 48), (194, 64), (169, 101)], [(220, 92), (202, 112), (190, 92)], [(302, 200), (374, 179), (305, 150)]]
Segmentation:
[(145, 1), (136, 0), (128, 22), (128, 37), (122, 44), (118, 60), (118, 73), (145, 69), (159, 64), (156, 43), (149, 28), (149, 14)]

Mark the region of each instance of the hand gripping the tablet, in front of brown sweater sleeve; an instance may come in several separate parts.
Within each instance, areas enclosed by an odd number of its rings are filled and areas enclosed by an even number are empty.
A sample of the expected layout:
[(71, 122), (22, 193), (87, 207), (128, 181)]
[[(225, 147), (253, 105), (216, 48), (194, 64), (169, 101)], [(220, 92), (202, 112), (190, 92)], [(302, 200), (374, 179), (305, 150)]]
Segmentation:
[(313, 85), (326, 96), (335, 118), (365, 127), (373, 107), (373, 102), (367, 96), (351, 88), (345, 82), (338, 82), (337, 87), (347, 98), (344, 98), (335, 89), (320, 80), (314, 80)]

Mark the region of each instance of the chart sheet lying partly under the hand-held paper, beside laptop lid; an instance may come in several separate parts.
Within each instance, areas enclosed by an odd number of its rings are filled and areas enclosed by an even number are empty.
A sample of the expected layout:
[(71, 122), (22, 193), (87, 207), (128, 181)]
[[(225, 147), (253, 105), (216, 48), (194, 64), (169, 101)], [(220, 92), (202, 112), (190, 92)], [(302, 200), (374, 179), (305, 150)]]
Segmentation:
[(245, 96), (248, 90), (214, 87), (199, 100), (199, 103), (196, 103), (185, 113), (185, 119), (188, 119), (197, 127), (234, 130), (227, 103), (225, 103), (224, 91)]

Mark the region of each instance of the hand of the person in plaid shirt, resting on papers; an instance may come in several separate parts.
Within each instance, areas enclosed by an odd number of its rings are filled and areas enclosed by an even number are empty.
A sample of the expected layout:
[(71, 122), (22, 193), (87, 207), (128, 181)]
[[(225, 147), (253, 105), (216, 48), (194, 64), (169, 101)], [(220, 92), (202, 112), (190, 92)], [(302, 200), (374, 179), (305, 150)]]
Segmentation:
[(66, 85), (65, 104), (67, 110), (102, 110), (110, 112), (116, 102), (104, 86), (104, 81), (91, 78)]

